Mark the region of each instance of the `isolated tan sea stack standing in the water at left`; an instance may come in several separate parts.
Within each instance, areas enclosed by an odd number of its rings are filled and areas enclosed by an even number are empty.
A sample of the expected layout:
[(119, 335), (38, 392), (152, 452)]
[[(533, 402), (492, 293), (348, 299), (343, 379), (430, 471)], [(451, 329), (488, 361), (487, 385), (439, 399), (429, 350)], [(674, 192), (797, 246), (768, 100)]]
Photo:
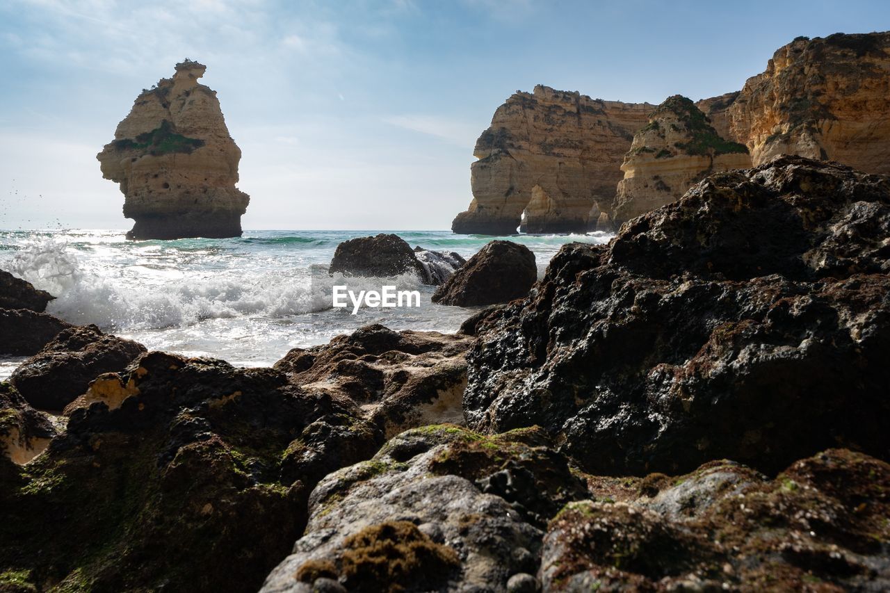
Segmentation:
[(235, 187), (241, 150), (216, 92), (198, 83), (206, 66), (176, 64), (173, 78), (143, 91), (97, 155), (120, 183), (129, 239), (237, 237), (249, 197)]

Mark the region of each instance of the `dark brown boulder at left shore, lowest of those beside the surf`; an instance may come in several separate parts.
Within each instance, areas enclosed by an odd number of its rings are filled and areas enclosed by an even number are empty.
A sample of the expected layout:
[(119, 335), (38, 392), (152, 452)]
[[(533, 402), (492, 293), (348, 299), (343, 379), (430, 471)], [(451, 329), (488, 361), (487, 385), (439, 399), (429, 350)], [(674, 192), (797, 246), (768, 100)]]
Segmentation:
[(122, 371), (145, 346), (103, 334), (94, 325), (65, 329), (12, 373), (12, 385), (40, 410), (61, 410), (94, 378)]

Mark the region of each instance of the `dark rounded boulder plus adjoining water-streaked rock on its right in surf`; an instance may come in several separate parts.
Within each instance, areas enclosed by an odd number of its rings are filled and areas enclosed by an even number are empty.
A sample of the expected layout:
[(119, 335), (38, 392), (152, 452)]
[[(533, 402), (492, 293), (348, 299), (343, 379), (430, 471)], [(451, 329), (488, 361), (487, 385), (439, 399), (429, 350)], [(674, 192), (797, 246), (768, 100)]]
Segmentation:
[(399, 235), (381, 232), (336, 246), (328, 272), (345, 276), (387, 277), (414, 273), (424, 284), (438, 286), (465, 263), (456, 253), (414, 248)]

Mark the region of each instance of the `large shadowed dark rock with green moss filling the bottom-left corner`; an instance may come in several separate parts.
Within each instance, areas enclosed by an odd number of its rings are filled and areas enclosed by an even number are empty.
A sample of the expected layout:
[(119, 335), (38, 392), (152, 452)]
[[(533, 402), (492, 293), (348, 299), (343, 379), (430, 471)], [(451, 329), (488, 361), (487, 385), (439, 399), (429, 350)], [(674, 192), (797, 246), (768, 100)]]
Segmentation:
[[(276, 370), (147, 353), (102, 381), (42, 455), (0, 464), (0, 572), (36, 589), (255, 591), (303, 530), (311, 476), (383, 443)], [(285, 451), (320, 421), (341, 429), (330, 451), (364, 440), (283, 478)]]

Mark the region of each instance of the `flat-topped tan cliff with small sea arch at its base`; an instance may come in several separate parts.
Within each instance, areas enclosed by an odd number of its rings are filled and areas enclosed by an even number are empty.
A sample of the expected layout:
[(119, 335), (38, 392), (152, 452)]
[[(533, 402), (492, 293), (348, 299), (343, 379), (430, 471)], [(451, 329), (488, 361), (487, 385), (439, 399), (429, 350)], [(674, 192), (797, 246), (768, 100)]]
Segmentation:
[(621, 159), (652, 108), (541, 85), (515, 93), (476, 141), (473, 202), (451, 229), (510, 234), (521, 220), (523, 232), (595, 228), (611, 207)]

